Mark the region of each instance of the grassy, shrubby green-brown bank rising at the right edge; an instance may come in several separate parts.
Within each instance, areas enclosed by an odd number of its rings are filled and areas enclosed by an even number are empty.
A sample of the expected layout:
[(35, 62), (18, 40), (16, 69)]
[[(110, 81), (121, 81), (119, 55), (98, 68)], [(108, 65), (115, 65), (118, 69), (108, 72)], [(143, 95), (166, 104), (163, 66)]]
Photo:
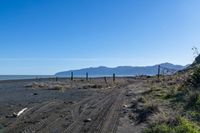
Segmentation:
[(165, 117), (152, 121), (144, 133), (200, 133), (200, 56), (189, 69), (152, 83), (144, 98), (164, 105)]

